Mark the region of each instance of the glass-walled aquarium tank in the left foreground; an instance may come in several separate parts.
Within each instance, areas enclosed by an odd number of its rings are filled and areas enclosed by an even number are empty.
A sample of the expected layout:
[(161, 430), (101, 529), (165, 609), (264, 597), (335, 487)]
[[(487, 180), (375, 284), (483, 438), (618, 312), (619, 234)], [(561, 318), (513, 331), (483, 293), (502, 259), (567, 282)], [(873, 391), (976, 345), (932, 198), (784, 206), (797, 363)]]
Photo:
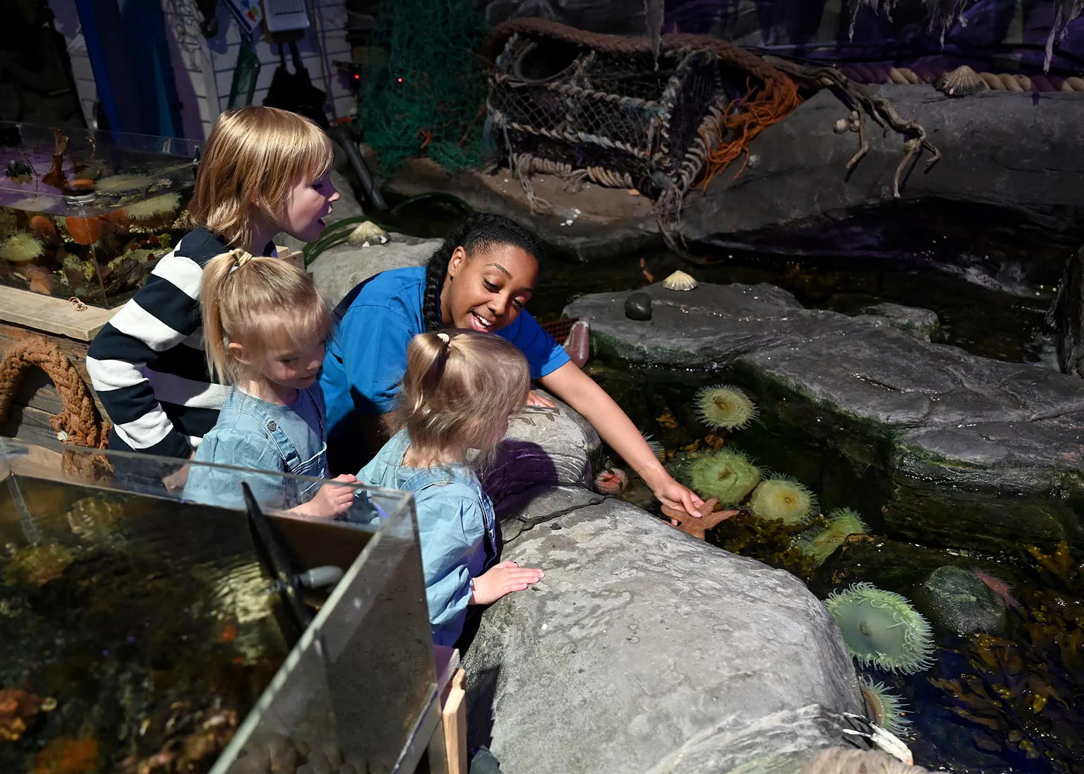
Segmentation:
[(0, 439), (0, 771), (413, 770), (439, 700), (409, 494), (318, 519), (186, 502), (196, 463), (59, 459)]

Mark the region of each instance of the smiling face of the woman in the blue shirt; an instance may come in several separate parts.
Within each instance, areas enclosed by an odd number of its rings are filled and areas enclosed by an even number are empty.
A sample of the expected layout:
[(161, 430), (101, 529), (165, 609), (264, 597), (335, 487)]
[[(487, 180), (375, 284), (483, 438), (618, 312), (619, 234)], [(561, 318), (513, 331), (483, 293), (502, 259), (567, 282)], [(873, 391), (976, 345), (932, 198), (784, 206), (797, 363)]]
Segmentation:
[(495, 245), (467, 256), (456, 247), (440, 294), (446, 327), (491, 333), (512, 323), (534, 293), (538, 261), (521, 247)]

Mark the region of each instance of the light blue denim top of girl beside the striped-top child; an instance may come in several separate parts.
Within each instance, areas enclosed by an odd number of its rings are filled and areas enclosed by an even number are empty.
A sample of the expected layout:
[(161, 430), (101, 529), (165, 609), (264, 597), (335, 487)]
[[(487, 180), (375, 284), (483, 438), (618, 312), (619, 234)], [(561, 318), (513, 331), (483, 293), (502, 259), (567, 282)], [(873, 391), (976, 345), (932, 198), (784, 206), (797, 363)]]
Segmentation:
[(184, 485), (185, 500), (243, 508), (244, 480), (264, 508), (286, 509), (307, 503), (322, 486), (320, 481), (287, 480), (273, 474), (330, 477), (324, 403), (319, 385), (299, 390), (297, 400), (289, 405), (269, 403), (234, 387), (194, 460), (271, 473), (259, 475), (193, 465)]

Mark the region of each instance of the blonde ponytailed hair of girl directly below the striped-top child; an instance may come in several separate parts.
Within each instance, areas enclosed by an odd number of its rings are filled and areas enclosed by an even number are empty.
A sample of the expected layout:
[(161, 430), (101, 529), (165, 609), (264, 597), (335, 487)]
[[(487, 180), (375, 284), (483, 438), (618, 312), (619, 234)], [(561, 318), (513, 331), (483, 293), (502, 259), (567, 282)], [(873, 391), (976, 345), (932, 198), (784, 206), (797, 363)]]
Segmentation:
[(230, 353), (231, 341), (253, 358), (269, 343), (327, 336), (327, 305), (312, 278), (280, 258), (231, 250), (207, 262), (199, 288), (207, 367), (223, 384), (236, 384), (245, 365)]

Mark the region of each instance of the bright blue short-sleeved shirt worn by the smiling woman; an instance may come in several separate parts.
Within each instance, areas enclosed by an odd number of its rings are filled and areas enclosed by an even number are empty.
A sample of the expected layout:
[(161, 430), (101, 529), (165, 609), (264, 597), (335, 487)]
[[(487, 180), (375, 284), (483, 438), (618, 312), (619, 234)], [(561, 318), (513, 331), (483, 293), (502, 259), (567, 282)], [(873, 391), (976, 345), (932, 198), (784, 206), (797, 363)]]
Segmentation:
[[(335, 332), (327, 343), (320, 386), (327, 404), (327, 455), (336, 470), (354, 473), (347, 461), (358, 414), (386, 414), (395, 408), (406, 371), (406, 345), (425, 332), (422, 305), (425, 267), (392, 269), (365, 280), (335, 309)], [(527, 358), (531, 378), (551, 374), (568, 362), (564, 348), (521, 311), (498, 336), (512, 341)], [(344, 467), (344, 465), (347, 465)]]

